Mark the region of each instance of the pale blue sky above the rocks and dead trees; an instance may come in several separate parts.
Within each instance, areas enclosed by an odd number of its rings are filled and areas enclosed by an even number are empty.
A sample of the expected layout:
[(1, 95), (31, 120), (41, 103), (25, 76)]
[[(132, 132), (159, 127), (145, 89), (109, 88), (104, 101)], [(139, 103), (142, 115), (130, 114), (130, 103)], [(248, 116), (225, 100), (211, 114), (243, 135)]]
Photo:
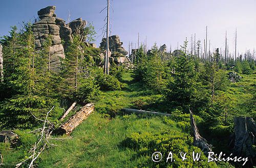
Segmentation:
[[(71, 20), (82, 17), (93, 22), (97, 31), (96, 44), (99, 45), (106, 11), (106, 0), (9, 0), (2, 1), (0, 7), (0, 36), (8, 35), (11, 25), (33, 20), (41, 8), (56, 6), (57, 17), (67, 20), (69, 11)], [(172, 43), (182, 44), (185, 37), (190, 40), (196, 33), (197, 40), (205, 38), (205, 26), (208, 25), (208, 40), (211, 50), (224, 48), (227, 30), (229, 51), (234, 51), (234, 32), (238, 30), (238, 50), (256, 48), (256, 1), (255, 0), (111, 0), (112, 35), (121, 37), (128, 49), (129, 41), (137, 43), (147, 37), (148, 48), (155, 42), (158, 46)], [(209, 43), (209, 42), (208, 42)]]

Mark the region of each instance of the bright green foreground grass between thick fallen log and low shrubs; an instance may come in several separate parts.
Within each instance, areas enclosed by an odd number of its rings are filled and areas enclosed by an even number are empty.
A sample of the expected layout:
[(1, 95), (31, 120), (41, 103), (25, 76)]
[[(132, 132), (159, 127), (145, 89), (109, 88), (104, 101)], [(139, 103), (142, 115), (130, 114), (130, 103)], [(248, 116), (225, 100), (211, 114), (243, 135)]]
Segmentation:
[[(157, 133), (168, 129), (160, 118), (136, 116), (104, 118), (94, 113), (71, 134), (72, 139), (55, 142), (42, 154), (39, 167), (134, 167), (143, 157), (131, 161), (136, 151), (120, 146), (133, 132)], [(178, 129), (178, 128), (176, 128)]]

